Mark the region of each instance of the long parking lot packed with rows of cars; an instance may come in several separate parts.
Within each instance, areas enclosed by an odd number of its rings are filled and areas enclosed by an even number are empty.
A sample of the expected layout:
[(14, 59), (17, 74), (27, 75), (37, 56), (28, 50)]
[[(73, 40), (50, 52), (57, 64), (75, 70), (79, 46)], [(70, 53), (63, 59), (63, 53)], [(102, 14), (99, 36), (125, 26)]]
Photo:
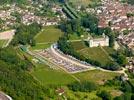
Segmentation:
[(82, 71), (86, 71), (89, 69), (89, 68), (77, 65), (75, 63), (71, 63), (70, 61), (65, 60), (55, 55), (51, 51), (51, 49), (42, 50), (38, 53), (42, 55), (43, 57), (47, 58), (50, 62), (56, 64), (57, 66), (60, 66), (60, 68), (62, 68), (63, 70), (69, 73), (77, 73), (77, 72), (82, 72)]

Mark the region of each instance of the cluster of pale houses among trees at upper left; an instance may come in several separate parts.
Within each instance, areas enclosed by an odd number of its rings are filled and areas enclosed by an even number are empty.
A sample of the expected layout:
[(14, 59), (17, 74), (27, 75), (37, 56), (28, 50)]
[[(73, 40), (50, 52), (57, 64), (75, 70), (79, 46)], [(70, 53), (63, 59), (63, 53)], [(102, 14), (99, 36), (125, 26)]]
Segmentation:
[[(48, 25), (57, 25), (61, 18), (65, 19), (66, 16), (62, 12), (62, 7), (58, 5), (53, 5), (51, 11), (55, 13), (55, 16), (48, 17), (48, 16), (37, 16), (35, 13), (40, 11), (43, 6), (33, 7), (26, 6), (25, 8), (20, 8), (15, 4), (12, 5), (4, 5), (0, 7), (0, 29), (8, 29), (9, 26), (13, 26), (17, 23), (17, 18), (15, 13), (17, 12), (20, 16), (21, 23), (25, 25), (29, 25), (33, 22), (37, 22), (42, 26)], [(7, 9), (5, 9), (7, 8)]]

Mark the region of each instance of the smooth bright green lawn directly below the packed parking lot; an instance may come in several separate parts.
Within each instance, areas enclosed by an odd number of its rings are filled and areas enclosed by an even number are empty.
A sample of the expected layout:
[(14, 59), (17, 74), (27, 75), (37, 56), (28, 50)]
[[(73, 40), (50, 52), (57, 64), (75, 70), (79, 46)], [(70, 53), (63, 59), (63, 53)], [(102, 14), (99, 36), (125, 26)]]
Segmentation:
[(31, 74), (43, 85), (66, 85), (75, 81), (71, 75), (50, 69), (47, 65), (38, 65)]

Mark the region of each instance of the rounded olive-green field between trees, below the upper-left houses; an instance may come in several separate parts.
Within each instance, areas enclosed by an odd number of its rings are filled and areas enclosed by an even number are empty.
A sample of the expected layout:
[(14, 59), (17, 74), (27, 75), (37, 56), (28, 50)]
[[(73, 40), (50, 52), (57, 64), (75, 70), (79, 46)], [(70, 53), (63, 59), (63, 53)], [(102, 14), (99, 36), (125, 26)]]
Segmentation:
[(36, 43), (56, 42), (63, 32), (56, 26), (46, 26), (43, 31), (35, 36)]

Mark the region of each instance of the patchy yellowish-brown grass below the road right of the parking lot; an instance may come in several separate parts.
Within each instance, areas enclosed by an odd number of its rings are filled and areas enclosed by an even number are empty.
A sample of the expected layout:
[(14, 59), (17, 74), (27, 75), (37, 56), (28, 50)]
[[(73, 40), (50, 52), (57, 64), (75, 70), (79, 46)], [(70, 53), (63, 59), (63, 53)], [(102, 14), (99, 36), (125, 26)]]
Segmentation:
[(103, 84), (106, 80), (113, 79), (115, 76), (118, 75), (120, 74), (112, 72), (104, 72), (100, 70), (92, 70), (74, 74), (74, 76), (76, 76), (80, 80), (91, 81), (100, 85)]

